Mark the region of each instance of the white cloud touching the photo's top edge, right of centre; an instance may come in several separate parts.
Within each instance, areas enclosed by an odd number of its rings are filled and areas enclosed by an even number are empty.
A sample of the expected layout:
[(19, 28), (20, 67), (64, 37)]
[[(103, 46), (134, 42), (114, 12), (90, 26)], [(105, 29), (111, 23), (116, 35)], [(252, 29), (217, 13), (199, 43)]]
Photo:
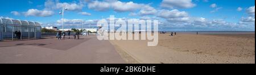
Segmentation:
[(192, 3), (192, 0), (163, 0), (160, 6), (169, 9), (188, 9), (195, 7), (196, 4)]

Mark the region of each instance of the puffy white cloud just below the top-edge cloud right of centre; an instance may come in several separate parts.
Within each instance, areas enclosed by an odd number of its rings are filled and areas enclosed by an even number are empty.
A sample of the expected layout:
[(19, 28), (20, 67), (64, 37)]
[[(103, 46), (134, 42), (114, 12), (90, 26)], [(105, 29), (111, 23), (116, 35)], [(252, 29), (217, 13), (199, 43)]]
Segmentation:
[(188, 13), (179, 10), (159, 10), (158, 15), (160, 18), (183, 18), (187, 17)]

